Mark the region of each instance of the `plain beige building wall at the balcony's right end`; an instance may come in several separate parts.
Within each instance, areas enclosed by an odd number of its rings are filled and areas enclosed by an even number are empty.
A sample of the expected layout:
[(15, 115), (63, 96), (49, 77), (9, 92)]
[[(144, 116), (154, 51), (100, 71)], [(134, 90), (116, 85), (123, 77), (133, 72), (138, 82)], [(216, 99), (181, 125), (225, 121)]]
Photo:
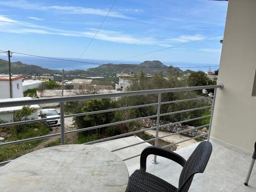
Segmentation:
[(229, 0), (211, 137), (253, 152), (256, 141), (256, 1)]

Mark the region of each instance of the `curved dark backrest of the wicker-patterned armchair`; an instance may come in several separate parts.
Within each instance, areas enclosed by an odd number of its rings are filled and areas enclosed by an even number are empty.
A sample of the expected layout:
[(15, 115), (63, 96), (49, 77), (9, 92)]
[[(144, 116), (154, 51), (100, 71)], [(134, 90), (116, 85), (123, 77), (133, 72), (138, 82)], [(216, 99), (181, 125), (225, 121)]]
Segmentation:
[(212, 145), (209, 141), (202, 141), (188, 158), (179, 179), (179, 190), (187, 192), (196, 173), (203, 173), (210, 158)]

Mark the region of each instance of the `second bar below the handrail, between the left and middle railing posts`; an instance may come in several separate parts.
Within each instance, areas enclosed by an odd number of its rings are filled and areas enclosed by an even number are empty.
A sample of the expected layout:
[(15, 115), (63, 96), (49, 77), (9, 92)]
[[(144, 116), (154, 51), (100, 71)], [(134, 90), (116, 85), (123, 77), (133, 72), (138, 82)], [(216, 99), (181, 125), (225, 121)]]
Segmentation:
[(123, 124), (123, 123), (130, 123), (130, 122), (139, 121), (139, 120), (142, 120), (142, 119), (154, 118), (154, 117), (157, 117), (157, 115), (152, 115), (152, 116), (147, 116), (147, 117), (140, 117), (140, 118), (129, 119), (129, 120), (124, 120), (124, 121), (118, 121), (118, 122), (114, 122), (114, 123), (102, 124), (102, 125), (97, 125), (97, 126), (91, 126), (91, 127), (87, 127), (87, 128), (83, 128), (83, 129), (79, 129), (79, 130), (68, 131), (68, 132), (65, 132), (65, 134), (95, 130), (95, 129), (99, 129), (101, 127), (112, 126), (112, 125)]

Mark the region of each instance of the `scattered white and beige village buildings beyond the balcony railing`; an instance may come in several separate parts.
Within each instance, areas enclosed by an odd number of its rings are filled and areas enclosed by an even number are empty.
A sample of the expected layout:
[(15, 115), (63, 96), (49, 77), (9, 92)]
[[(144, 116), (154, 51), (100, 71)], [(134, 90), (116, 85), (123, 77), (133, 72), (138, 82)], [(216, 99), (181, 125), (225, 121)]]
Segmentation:
[[(210, 79), (217, 78), (217, 75), (214, 75), (211, 71), (206, 72), (207, 77)], [(104, 77), (87, 77), (87, 78), (74, 78), (73, 80), (64, 80), (56, 83), (59, 85), (58, 89), (43, 89), (42, 84), (47, 81), (55, 81), (56, 79), (60, 79), (61, 75), (58, 77), (50, 76), (48, 74), (44, 75), (11, 75), (11, 88), (10, 88), (10, 78), (9, 75), (1, 74), (0, 75), (0, 99), (2, 101), (9, 100), (29, 100), (33, 98), (50, 98), (50, 97), (61, 97), (61, 96), (75, 96), (81, 94), (89, 94), (88, 89), (95, 90), (97, 93), (118, 93), (125, 92), (127, 88), (130, 86), (131, 78), (133, 78), (136, 73), (121, 73), (117, 74), (118, 80), (116, 82), (112, 82), (114, 86), (106, 86), (93, 84), (93, 79), (102, 79)], [(185, 74), (185, 75), (189, 75)], [(153, 78), (153, 75), (146, 74), (146, 78)], [(25, 95), (24, 92), (31, 89), (38, 89), (36, 94), (33, 96)], [(63, 95), (62, 95), (63, 89)], [(37, 119), (40, 109), (42, 108), (51, 108), (58, 106), (59, 103), (51, 103), (51, 104), (42, 104), (42, 105), (32, 105), (31, 108), (35, 109), (34, 114), (31, 115), (31, 119)], [(1, 108), (0, 109), (0, 119), (5, 122), (12, 122), (14, 112), (17, 110), (21, 110), (23, 106), (16, 106), (10, 108)]]

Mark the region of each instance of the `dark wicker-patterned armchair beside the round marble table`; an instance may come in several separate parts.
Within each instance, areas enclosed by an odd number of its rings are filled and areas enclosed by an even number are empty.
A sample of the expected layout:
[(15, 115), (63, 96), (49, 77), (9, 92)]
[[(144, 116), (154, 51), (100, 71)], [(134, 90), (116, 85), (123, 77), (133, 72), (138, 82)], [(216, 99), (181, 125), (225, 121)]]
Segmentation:
[[(146, 147), (140, 156), (140, 169), (135, 170), (129, 181), (130, 192), (173, 192), (188, 191), (193, 177), (197, 173), (203, 173), (210, 158), (212, 146), (209, 141), (201, 142), (193, 154), (186, 161), (180, 155), (165, 150), (157, 146)], [(179, 163), (183, 166), (180, 178), (179, 188), (169, 184), (168, 182), (146, 172), (146, 158), (148, 155), (158, 155)]]

